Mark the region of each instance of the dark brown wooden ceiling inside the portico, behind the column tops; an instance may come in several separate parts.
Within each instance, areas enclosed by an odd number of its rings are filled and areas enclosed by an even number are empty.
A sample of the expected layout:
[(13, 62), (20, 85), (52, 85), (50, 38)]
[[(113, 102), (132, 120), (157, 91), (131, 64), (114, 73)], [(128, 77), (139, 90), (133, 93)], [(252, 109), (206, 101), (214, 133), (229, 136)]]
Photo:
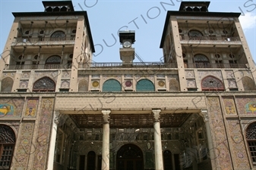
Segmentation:
[[(161, 114), (160, 126), (165, 127), (180, 127), (192, 113), (169, 113)], [(78, 128), (102, 128), (102, 114), (71, 114), (71, 119), (74, 120)], [(110, 115), (110, 128), (152, 128), (152, 114), (112, 114)]]

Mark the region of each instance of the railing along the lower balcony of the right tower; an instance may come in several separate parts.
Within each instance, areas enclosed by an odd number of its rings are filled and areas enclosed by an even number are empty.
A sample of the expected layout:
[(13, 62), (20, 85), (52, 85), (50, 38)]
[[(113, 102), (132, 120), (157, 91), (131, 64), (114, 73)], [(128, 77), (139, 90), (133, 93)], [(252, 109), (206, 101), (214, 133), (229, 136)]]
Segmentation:
[(247, 68), (239, 63), (185, 63), (185, 68)]

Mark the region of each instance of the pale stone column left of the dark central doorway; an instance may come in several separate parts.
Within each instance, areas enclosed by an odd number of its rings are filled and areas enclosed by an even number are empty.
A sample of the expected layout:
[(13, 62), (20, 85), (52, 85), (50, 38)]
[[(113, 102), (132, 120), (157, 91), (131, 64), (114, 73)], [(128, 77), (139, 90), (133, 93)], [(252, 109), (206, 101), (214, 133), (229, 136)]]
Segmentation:
[(109, 170), (109, 113), (110, 110), (102, 110), (103, 113), (103, 155), (102, 155), (102, 170)]

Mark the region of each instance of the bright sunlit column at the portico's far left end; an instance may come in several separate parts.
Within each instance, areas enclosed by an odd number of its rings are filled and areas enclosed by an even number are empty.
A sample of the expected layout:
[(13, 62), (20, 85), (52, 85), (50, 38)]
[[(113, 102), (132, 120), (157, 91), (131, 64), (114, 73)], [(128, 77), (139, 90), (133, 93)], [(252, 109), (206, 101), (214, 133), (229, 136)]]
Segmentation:
[(53, 119), (52, 119), (52, 134), (51, 139), (49, 142), (49, 156), (48, 156), (48, 165), (47, 169), (53, 169), (53, 162), (54, 162), (54, 151), (55, 151), (55, 141), (56, 141), (56, 135), (57, 135), (57, 126), (59, 122), (59, 111), (55, 110)]

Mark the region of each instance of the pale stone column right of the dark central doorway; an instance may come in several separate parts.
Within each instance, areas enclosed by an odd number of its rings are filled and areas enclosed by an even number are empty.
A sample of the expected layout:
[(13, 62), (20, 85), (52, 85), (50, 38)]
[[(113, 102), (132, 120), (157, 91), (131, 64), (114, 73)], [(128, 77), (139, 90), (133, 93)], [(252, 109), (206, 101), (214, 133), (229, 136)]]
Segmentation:
[(161, 110), (152, 110), (155, 122), (153, 123), (154, 128), (154, 147), (155, 147), (155, 165), (157, 170), (163, 170), (163, 152), (162, 152), (162, 141), (160, 131), (160, 112)]

